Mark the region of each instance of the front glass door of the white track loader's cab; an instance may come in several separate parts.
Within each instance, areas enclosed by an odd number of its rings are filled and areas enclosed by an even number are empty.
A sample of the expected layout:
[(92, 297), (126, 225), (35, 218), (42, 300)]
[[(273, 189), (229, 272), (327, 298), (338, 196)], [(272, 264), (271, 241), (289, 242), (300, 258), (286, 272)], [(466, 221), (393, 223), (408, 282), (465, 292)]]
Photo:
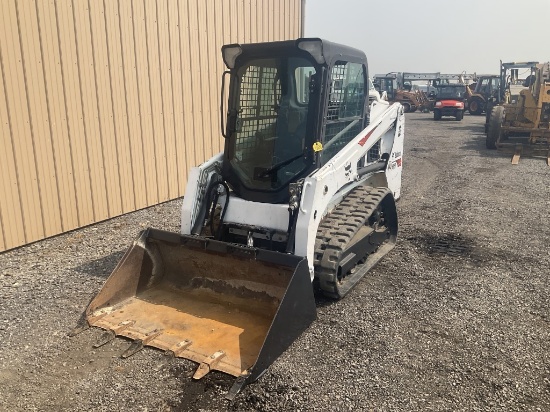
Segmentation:
[(306, 120), (315, 73), (300, 57), (255, 59), (238, 70), (229, 160), (246, 187), (277, 190), (307, 167)]

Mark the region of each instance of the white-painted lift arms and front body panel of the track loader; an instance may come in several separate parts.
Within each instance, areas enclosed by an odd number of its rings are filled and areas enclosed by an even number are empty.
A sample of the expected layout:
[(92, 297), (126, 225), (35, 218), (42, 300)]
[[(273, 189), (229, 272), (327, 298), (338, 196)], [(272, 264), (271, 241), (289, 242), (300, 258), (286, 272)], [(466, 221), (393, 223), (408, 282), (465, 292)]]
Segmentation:
[[(389, 104), (375, 96), (370, 104), (370, 124), (321, 169), (305, 178), (296, 224), (295, 254), (307, 258), (312, 280), (317, 229), (334, 205), (359, 184), (388, 187), (396, 200), (401, 196), (404, 122), (399, 103)], [(389, 154), (387, 167), (360, 177), (358, 162), (366, 159), (373, 148), (380, 154)], [(209, 177), (221, 169), (222, 157), (221, 153), (217, 154), (191, 169), (181, 209), (181, 234), (191, 234)], [(225, 199), (221, 200), (220, 204), (224, 205)], [(247, 201), (232, 193), (224, 222), (286, 232), (288, 205)]]

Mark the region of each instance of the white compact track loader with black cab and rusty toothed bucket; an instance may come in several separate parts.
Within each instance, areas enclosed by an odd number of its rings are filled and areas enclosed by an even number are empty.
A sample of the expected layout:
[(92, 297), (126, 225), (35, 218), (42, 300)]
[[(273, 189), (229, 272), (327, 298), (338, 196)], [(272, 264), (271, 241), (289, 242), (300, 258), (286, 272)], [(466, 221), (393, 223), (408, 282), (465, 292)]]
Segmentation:
[(404, 114), (369, 103), (359, 50), (303, 38), (222, 54), (225, 148), (191, 170), (181, 233), (143, 231), (74, 333), (231, 374), (231, 398), (315, 320), (314, 288), (343, 297), (394, 246)]

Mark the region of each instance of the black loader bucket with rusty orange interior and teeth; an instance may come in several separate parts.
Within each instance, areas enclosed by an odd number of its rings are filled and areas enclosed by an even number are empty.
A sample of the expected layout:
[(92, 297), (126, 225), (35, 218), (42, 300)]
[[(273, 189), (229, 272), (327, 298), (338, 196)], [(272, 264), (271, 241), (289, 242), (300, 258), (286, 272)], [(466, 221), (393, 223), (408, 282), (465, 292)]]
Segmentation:
[[(90, 326), (257, 379), (316, 318), (306, 259), (147, 229), (86, 309)], [(98, 345), (100, 345), (99, 343)]]

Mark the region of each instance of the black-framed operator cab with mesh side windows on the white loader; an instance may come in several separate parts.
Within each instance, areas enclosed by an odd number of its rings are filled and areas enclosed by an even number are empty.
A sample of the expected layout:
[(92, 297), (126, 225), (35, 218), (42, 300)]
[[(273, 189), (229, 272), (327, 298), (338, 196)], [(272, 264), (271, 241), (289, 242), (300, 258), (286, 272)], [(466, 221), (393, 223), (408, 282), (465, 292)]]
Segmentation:
[(366, 57), (321, 39), (234, 44), (222, 53), (230, 76), (222, 177), (243, 199), (285, 203), (291, 183), (368, 124)]

